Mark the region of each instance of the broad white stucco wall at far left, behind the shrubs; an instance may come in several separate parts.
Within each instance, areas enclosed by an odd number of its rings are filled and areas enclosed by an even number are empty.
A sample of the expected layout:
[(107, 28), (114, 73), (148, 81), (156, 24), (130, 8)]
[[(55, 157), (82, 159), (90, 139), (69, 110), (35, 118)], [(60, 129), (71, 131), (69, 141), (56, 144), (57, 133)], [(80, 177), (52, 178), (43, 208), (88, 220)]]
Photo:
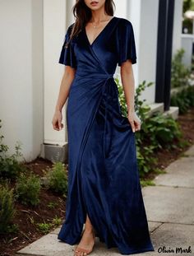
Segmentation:
[(0, 133), (11, 153), (22, 143), (26, 161), (43, 141), (41, 12), (42, 1), (0, 2)]

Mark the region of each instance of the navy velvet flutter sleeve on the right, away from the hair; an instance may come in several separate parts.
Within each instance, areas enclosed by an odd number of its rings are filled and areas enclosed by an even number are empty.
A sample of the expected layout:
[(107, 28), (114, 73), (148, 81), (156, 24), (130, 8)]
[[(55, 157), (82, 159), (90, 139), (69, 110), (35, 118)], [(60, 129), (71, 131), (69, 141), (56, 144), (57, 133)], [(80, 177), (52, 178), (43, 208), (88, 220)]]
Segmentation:
[(136, 43), (131, 21), (122, 18), (118, 24), (118, 66), (127, 59), (136, 63)]

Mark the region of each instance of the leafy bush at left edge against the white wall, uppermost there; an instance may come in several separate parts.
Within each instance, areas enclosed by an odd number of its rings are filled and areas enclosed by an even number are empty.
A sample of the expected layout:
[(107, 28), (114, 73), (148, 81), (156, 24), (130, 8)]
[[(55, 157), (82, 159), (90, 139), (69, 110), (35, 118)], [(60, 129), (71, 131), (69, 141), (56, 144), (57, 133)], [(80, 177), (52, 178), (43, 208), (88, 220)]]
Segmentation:
[[(0, 128), (2, 120), (0, 119)], [(0, 177), (8, 179), (16, 179), (16, 176), (25, 171), (25, 168), (18, 162), (18, 158), (21, 154), (21, 144), (16, 142), (15, 153), (12, 156), (8, 156), (7, 152), (9, 147), (3, 144), (4, 136), (0, 136)]]

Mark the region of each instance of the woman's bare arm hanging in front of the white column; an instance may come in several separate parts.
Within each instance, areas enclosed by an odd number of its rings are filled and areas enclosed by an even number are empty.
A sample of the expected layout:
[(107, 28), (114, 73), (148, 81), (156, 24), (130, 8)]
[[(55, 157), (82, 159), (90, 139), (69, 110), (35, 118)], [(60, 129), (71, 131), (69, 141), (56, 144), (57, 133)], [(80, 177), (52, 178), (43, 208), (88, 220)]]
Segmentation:
[(62, 124), (62, 107), (65, 104), (67, 97), (69, 95), (70, 87), (72, 85), (72, 81), (75, 77), (76, 69), (70, 66), (65, 66), (65, 71), (62, 76), (61, 86), (58, 93), (58, 100), (55, 107), (55, 112), (53, 115), (53, 129), (61, 130), (63, 127)]

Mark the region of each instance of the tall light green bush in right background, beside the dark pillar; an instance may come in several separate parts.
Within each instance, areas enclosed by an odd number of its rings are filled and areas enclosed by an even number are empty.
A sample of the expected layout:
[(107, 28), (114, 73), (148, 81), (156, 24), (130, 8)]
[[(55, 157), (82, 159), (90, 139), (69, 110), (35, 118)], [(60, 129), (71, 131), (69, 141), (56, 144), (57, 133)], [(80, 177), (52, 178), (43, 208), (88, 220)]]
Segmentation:
[(190, 69), (182, 63), (182, 57), (185, 53), (184, 49), (178, 49), (174, 54), (171, 67), (171, 87), (181, 87), (188, 85)]

